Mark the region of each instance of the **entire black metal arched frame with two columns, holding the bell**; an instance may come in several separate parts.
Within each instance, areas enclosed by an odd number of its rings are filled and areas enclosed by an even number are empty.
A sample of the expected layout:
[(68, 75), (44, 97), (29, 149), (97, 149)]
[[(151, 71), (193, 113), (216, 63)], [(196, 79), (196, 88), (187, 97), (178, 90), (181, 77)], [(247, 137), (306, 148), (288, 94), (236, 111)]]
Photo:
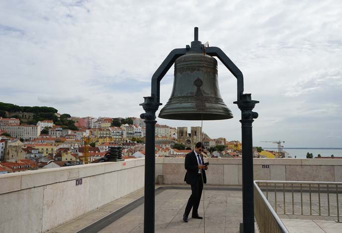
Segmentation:
[(140, 104), (145, 110), (140, 117), (146, 123), (145, 144), (145, 203), (144, 203), (144, 233), (155, 232), (155, 129), (156, 112), (160, 101), (160, 82), (169, 71), (174, 61), (186, 52), (203, 52), (215, 56), (228, 68), (237, 79), (237, 104), (241, 110), (242, 124), (242, 166), (243, 166), (243, 228), (244, 233), (254, 233), (254, 190), (253, 190), (253, 140), (252, 122), (257, 113), (252, 112), (258, 101), (251, 99), (251, 94), (244, 92), (244, 76), (240, 69), (218, 47), (204, 47), (198, 41), (198, 28), (195, 27), (194, 41), (191, 47), (173, 49), (152, 76), (151, 96), (144, 97), (145, 102)]

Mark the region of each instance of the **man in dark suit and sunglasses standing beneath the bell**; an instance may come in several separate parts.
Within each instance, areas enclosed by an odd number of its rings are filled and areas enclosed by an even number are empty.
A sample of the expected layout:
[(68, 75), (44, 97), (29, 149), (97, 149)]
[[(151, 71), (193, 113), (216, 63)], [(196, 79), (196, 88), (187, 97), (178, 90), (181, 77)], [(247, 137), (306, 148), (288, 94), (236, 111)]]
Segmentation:
[(191, 185), (191, 195), (185, 207), (185, 212), (183, 215), (183, 221), (188, 222), (188, 216), (192, 208), (191, 217), (194, 219), (203, 219), (198, 215), (198, 206), (201, 201), (201, 195), (203, 190), (203, 183), (207, 183), (207, 177), (205, 176), (205, 171), (208, 167), (203, 165), (202, 151), (204, 147), (202, 142), (197, 142), (195, 149), (185, 156), (185, 169), (186, 174), (184, 181)]

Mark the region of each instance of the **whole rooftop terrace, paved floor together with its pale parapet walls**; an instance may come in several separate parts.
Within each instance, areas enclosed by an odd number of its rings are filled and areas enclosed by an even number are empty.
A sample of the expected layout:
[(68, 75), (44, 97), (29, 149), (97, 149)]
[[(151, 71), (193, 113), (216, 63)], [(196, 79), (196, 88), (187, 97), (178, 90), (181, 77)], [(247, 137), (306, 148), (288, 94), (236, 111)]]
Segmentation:
[[(205, 220), (190, 218), (188, 223), (183, 223), (181, 216), (191, 192), (183, 182), (184, 159), (156, 158), (156, 182), (163, 183), (156, 187), (156, 232), (203, 232), (204, 226), (206, 233), (239, 232), (242, 221), (241, 159), (209, 158), (208, 161), (208, 184), (205, 185), (204, 199), (202, 196), (199, 208), (199, 214), (203, 216), (204, 200)], [(1, 232), (143, 232), (144, 162), (144, 159), (128, 159), (2, 174)], [(341, 182), (342, 161), (254, 159), (254, 172), (255, 180)], [(282, 183), (277, 183), (274, 189), (274, 182), (266, 185), (260, 181), (257, 187), (264, 198), (258, 196), (255, 190), (256, 224), (259, 228), (268, 226), (270, 220), (278, 218), (280, 225), (283, 224), (290, 233), (340, 232), (338, 228), (341, 223), (335, 221), (338, 221), (337, 206), (339, 210), (342, 208), (342, 192), (340, 187), (335, 189), (334, 185), (330, 189), (328, 207), (327, 190), (323, 189), (323, 185), (320, 201), (317, 199), (317, 184), (312, 185), (311, 194), (308, 192), (309, 186), (302, 186), (302, 204), (300, 184), (294, 185), (292, 204), (291, 184), (284, 185), (283, 190)], [(336, 197), (340, 198), (340, 203)], [(321, 213), (317, 209), (319, 202)], [(310, 215), (310, 203), (314, 215)], [(261, 204), (264, 207), (261, 208)], [(301, 205), (306, 215), (301, 215)], [(298, 215), (292, 213), (292, 206)], [(331, 216), (325, 216), (328, 208)], [(275, 228), (279, 228), (277, 221)], [(262, 228), (260, 232), (267, 231)]]

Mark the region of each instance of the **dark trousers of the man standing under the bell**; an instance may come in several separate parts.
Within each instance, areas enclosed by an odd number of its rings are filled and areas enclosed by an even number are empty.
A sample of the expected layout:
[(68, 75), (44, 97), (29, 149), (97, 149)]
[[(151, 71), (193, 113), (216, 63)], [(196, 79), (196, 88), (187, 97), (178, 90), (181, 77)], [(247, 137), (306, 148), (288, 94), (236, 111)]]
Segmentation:
[(198, 182), (191, 184), (191, 195), (189, 200), (187, 201), (184, 215), (189, 216), (191, 208), (192, 208), (192, 216), (198, 215), (198, 206), (201, 201), (203, 190), (203, 181), (201, 174), (198, 175)]

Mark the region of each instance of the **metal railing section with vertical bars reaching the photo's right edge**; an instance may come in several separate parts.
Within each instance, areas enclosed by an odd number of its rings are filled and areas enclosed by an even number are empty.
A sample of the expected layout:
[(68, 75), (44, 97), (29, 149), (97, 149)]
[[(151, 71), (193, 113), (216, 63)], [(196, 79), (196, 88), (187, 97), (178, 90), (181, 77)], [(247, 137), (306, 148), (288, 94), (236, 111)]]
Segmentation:
[[(255, 184), (262, 187), (276, 214), (331, 216), (341, 223), (342, 182), (255, 181)], [(309, 197), (303, 198), (304, 194)]]

